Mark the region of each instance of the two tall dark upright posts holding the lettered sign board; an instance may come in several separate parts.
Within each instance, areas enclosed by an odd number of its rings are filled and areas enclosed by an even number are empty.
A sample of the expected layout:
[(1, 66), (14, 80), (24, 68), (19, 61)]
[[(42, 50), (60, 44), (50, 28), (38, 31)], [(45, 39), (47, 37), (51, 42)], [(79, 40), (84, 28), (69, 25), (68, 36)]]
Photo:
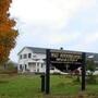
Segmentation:
[[(58, 51), (59, 53), (62, 52), (62, 50), (51, 50), (51, 49), (47, 49), (46, 50), (46, 78), (45, 78), (45, 94), (48, 95), (50, 94), (50, 65), (51, 65), (51, 53), (53, 51)], [(64, 50), (63, 50), (64, 52)], [(73, 52), (71, 52), (70, 54), (73, 54)], [(75, 54), (75, 53), (74, 53)], [(85, 75), (86, 75), (86, 53), (82, 52), (82, 91), (85, 90)]]

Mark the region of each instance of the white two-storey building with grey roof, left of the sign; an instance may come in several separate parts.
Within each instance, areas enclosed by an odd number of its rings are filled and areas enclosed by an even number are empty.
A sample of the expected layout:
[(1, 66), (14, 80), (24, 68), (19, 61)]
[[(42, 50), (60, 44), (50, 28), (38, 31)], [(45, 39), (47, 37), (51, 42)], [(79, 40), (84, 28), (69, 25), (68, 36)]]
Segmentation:
[[(44, 73), (46, 72), (46, 49), (24, 47), (19, 53), (19, 65), (17, 71)], [(50, 70), (51, 73), (60, 72), (53, 66)]]

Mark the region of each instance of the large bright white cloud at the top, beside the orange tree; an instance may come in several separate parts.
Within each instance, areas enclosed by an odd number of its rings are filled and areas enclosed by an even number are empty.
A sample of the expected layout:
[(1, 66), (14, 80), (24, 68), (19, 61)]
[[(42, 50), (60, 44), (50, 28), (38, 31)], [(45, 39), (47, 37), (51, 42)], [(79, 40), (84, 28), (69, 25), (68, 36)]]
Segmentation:
[(62, 27), (79, 9), (95, 5), (96, 0), (13, 0), (10, 12), (23, 22)]

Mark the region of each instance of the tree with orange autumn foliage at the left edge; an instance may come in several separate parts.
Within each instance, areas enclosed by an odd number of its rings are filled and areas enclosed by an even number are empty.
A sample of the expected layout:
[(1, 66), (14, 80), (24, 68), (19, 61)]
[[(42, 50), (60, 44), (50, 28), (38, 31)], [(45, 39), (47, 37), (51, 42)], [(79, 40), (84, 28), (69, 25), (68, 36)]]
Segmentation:
[(15, 46), (17, 30), (15, 21), (10, 19), (9, 8), (12, 0), (0, 0), (0, 64), (9, 59), (12, 48)]

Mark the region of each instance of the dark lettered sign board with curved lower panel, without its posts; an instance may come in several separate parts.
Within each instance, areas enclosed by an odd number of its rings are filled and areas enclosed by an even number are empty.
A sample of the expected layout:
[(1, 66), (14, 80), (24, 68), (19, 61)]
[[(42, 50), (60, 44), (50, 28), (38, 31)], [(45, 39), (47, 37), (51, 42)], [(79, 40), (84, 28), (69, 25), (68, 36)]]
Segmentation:
[(50, 63), (62, 72), (76, 70), (82, 66), (82, 52), (50, 50)]

